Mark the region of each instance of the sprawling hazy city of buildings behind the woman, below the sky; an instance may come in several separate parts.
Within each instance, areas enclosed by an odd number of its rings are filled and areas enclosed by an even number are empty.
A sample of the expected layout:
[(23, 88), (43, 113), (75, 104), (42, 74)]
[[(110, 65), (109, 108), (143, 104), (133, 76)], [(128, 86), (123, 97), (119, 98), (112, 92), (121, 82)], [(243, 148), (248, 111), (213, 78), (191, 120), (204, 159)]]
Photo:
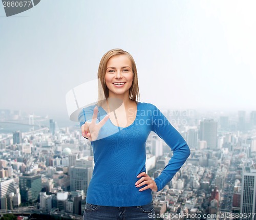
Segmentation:
[[(256, 110), (162, 112), (191, 155), (153, 192), (157, 219), (255, 219)], [(0, 126), (0, 214), (82, 219), (94, 158), (78, 124), (59, 127), (54, 119), (0, 109)], [(151, 133), (147, 174), (157, 178), (171, 157), (170, 147)]]

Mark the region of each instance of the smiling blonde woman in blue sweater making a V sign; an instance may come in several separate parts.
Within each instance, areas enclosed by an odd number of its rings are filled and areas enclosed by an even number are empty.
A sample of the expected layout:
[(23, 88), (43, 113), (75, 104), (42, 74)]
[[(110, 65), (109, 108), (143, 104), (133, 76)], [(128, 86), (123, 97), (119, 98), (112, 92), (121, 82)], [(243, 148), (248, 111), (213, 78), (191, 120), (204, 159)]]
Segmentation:
[[(105, 53), (98, 78), (98, 103), (83, 108), (78, 116), (95, 162), (84, 219), (154, 219), (152, 191), (162, 190), (172, 180), (190, 155), (189, 147), (155, 105), (137, 101), (137, 69), (128, 52)], [(145, 144), (151, 131), (174, 151), (155, 180), (145, 169)]]

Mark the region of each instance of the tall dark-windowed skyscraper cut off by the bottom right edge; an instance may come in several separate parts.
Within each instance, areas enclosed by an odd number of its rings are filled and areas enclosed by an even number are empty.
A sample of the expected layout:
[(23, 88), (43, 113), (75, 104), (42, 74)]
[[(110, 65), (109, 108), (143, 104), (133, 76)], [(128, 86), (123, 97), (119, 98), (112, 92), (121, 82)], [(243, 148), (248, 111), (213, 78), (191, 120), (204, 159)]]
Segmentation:
[[(256, 166), (244, 167), (241, 190), (241, 213), (256, 212)], [(241, 219), (255, 219), (255, 216)]]

